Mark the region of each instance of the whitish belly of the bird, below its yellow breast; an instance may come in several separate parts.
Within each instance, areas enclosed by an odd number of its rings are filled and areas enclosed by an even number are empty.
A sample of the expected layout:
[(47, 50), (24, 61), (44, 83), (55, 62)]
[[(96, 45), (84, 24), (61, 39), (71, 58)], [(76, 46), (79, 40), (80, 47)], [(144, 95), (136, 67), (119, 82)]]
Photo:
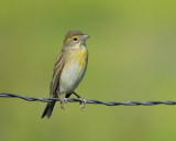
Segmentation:
[(78, 61), (67, 64), (61, 75), (59, 93), (69, 94), (79, 85), (86, 72), (87, 63), (84, 66)]

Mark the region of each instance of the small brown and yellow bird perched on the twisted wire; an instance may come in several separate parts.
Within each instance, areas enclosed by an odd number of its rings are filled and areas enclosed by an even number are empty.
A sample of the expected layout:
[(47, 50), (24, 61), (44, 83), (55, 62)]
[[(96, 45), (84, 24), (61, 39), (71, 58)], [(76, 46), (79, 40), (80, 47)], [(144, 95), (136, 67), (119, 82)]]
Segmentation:
[[(85, 42), (88, 37), (89, 35), (80, 31), (69, 31), (65, 36), (63, 48), (56, 58), (50, 87), (50, 97), (59, 98), (62, 108), (66, 98), (72, 94), (76, 95), (86, 104), (86, 99), (81, 98), (74, 90), (86, 73), (88, 50)], [(66, 94), (65, 98), (61, 97), (62, 94)], [(47, 102), (42, 118), (45, 116), (47, 118), (51, 117), (55, 102), (56, 101)]]

